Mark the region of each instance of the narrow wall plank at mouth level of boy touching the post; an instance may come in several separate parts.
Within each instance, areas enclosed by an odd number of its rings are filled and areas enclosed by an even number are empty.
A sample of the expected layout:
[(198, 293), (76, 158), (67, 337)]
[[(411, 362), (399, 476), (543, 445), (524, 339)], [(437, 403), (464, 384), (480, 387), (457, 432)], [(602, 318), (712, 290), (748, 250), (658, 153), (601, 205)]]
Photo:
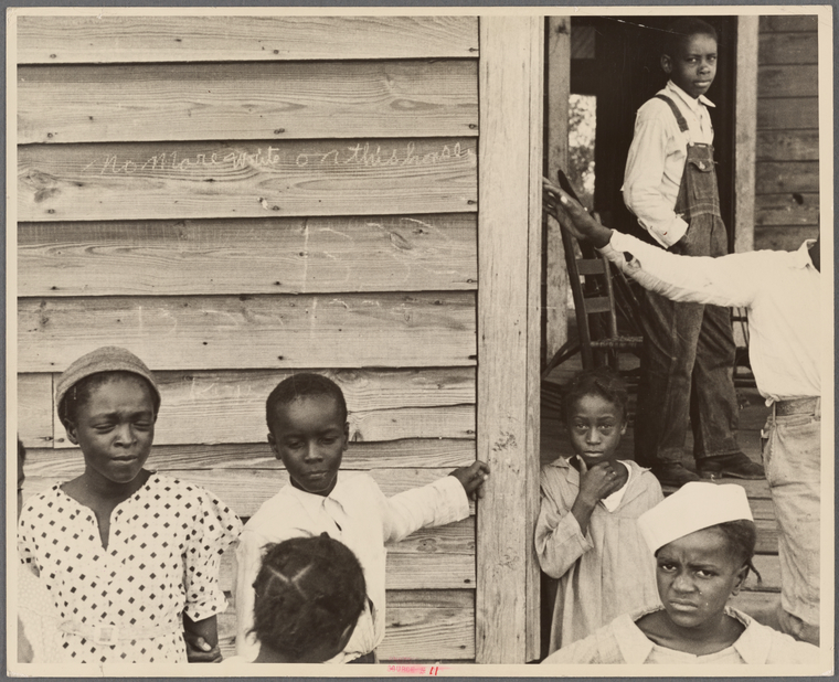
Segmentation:
[[(266, 430), (266, 429), (263, 429)], [(45, 431), (43, 431), (45, 433)], [(387, 443), (350, 443), (343, 468), (455, 468), (475, 461), (475, 440), (448, 438), (405, 439)], [(278, 465), (267, 441), (225, 445), (155, 445), (148, 467), (157, 471), (193, 469), (274, 469)], [(26, 471), (67, 480), (82, 472), (82, 457), (66, 449), (30, 448)]]

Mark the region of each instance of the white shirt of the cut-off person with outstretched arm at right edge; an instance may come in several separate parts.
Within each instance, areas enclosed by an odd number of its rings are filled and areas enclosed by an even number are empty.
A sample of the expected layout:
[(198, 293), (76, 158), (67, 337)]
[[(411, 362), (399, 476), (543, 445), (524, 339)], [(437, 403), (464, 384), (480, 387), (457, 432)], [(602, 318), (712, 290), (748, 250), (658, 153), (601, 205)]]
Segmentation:
[(752, 372), (772, 404), (821, 395), (821, 276), (810, 260), (811, 244), (796, 252), (689, 257), (613, 232), (602, 252), (645, 289), (671, 300), (747, 308)]

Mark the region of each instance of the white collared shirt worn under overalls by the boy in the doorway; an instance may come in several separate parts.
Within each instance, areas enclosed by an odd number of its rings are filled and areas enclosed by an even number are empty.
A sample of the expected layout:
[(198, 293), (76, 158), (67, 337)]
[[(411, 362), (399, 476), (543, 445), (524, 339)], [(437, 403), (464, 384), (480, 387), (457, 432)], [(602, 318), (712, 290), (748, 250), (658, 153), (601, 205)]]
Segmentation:
[(711, 145), (714, 140), (708, 114), (708, 107), (714, 105), (704, 95), (694, 99), (672, 81), (658, 94), (673, 100), (688, 122), (688, 131), (679, 130), (670, 105), (658, 97), (647, 100), (635, 119), (622, 190), (627, 209), (667, 248), (688, 231), (688, 223), (675, 211), (676, 199), (688, 158), (688, 145)]

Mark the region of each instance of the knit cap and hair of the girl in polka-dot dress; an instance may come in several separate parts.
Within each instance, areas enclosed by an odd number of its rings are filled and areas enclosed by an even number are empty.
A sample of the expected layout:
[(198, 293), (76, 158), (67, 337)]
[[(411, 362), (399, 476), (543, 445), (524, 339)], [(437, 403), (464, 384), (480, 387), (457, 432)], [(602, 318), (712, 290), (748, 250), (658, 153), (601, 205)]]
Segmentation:
[(136, 379), (149, 390), (157, 417), (160, 409), (160, 391), (146, 364), (130, 351), (115, 345), (98, 348), (73, 362), (59, 377), (55, 402), (59, 419), (66, 426), (75, 424), (78, 408), (99, 386), (115, 379)]

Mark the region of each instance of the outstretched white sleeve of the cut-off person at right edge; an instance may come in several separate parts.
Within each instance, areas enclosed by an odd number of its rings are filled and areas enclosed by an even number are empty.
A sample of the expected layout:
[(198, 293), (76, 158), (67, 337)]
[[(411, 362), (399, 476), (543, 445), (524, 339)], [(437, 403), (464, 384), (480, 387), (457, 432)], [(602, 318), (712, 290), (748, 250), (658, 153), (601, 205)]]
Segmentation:
[(679, 302), (748, 307), (762, 275), (760, 252), (677, 256), (619, 232), (601, 253), (645, 289)]

